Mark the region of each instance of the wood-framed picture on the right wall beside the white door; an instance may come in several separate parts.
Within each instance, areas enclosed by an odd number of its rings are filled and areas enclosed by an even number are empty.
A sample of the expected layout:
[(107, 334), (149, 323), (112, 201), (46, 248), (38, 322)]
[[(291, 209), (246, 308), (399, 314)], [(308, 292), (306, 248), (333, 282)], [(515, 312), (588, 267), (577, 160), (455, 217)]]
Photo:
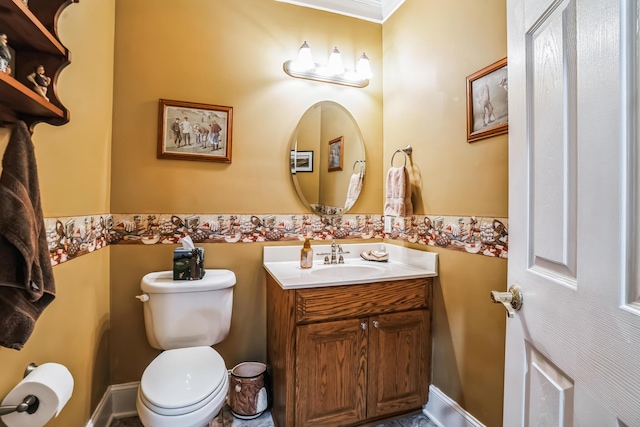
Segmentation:
[(467, 142), (509, 131), (507, 58), (467, 77)]

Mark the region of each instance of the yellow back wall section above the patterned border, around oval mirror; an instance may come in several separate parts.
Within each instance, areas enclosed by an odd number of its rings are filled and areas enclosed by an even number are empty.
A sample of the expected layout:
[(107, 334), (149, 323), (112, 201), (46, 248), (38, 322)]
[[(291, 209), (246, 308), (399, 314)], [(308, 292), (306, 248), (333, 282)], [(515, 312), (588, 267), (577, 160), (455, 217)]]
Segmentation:
[[(291, 78), (282, 64), (307, 40), (318, 62), (334, 45), (351, 67), (371, 52), (381, 75), (381, 36), (373, 23), (275, 1), (118, 2), (112, 212), (301, 211), (289, 138), (325, 99), (353, 114), (380, 164), (381, 79), (353, 89)], [(156, 159), (159, 98), (233, 107), (232, 163)], [(379, 209), (381, 197), (372, 191), (360, 206)]]

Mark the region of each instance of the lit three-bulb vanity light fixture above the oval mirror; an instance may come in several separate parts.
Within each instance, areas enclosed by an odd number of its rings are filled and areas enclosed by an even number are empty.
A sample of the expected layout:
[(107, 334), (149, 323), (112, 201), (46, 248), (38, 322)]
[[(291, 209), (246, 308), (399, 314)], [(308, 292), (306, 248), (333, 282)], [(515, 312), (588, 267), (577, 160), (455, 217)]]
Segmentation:
[(369, 58), (364, 53), (358, 59), (356, 71), (345, 70), (342, 56), (337, 47), (331, 51), (327, 66), (316, 64), (311, 56), (311, 48), (306, 41), (300, 46), (298, 59), (285, 62), (283, 68), (284, 72), (291, 77), (353, 87), (367, 86), (373, 75)]

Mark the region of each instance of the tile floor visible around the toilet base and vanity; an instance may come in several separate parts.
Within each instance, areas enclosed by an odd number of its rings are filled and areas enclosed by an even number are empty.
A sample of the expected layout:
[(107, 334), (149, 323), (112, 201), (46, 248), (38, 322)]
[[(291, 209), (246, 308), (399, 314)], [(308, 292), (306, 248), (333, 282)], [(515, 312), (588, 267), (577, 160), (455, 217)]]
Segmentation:
[[(110, 427), (142, 427), (138, 417), (114, 420)], [(239, 420), (233, 417), (228, 407), (209, 423), (209, 427), (273, 427), (271, 413), (268, 411), (254, 420)], [(417, 414), (399, 420), (380, 424), (376, 427), (436, 427), (424, 414)]]

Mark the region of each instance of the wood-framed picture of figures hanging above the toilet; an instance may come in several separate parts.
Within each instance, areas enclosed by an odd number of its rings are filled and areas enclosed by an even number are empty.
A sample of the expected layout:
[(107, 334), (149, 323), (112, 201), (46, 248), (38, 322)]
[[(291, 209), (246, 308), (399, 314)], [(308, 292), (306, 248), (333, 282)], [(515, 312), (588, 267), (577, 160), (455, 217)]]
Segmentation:
[(231, 163), (233, 108), (160, 100), (158, 158)]

